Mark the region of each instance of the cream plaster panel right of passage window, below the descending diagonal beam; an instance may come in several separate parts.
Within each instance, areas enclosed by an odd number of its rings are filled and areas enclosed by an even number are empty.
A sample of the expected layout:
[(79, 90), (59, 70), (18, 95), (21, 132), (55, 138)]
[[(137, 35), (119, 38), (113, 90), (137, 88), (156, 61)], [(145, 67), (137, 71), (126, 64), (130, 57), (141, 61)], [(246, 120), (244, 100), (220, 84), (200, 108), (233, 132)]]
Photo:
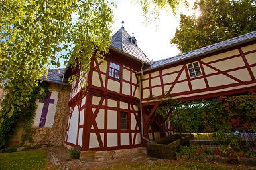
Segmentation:
[(207, 81), (210, 87), (237, 83), (237, 81), (227, 77), (226, 75), (212, 75), (210, 77), (207, 77)]

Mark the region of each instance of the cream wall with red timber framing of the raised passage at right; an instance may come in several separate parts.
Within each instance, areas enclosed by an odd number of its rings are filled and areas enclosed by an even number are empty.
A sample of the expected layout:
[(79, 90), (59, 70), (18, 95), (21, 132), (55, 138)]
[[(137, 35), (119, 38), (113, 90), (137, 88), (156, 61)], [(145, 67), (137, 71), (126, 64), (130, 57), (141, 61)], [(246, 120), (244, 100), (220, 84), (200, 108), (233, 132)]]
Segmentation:
[[(253, 50), (243, 51), (250, 45), (254, 45)], [(163, 99), (166, 95), (180, 101), (191, 101), (256, 91), (256, 74), (253, 73), (256, 62), (251, 55), (256, 56), (255, 41), (145, 71), (143, 81), (149, 85), (145, 87), (144, 83), (143, 103)], [(199, 63), (202, 75), (190, 78), (187, 65), (194, 62)], [(168, 69), (170, 71), (166, 71)], [(154, 89), (159, 89), (157, 95), (153, 93)]]

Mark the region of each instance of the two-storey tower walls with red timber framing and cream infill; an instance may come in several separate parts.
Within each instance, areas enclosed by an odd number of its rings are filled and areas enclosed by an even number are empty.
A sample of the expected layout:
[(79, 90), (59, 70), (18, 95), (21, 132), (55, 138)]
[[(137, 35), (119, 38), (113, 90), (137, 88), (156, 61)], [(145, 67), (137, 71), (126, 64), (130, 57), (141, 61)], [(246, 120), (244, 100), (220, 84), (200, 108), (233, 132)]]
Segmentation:
[[(109, 76), (109, 62), (120, 66), (120, 79)], [(70, 97), (70, 118), (66, 129), (65, 143), (73, 147), (79, 146), (81, 151), (108, 151), (141, 147), (136, 75), (141, 63), (123, 59), (122, 55), (112, 51), (104, 61), (92, 58), (90, 67), (86, 79), (88, 83), (86, 93), (82, 89), (77, 90), (77, 85), (74, 85), (72, 89), (76, 92)], [(115, 85), (115, 87), (111, 87), (111, 85)], [(84, 97), (86, 104), (82, 105)], [(71, 140), (68, 139), (71, 136), (72, 125), (70, 122), (72, 122), (74, 109), (77, 107), (78, 123), (74, 123), (77, 126), (77, 134), (72, 135), (76, 139)], [(127, 129), (120, 127), (120, 112), (127, 113)]]

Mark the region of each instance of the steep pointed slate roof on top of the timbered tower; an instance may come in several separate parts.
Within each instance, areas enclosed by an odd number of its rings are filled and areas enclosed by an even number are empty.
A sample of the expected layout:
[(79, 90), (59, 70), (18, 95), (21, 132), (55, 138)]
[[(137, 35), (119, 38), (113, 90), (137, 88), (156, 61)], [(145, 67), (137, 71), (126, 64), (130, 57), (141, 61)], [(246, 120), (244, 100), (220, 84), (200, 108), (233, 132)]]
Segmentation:
[(118, 51), (127, 53), (134, 57), (135, 59), (139, 59), (139, 61), (144, 61), (149, 64), (150, 60), (143, 53), (143, 51), (139, 48), (138, 45), (131, 43), (131, 36), (127, 33), (127, 31), (121, 27), (113, 36), (110, 47), (117, 49)]

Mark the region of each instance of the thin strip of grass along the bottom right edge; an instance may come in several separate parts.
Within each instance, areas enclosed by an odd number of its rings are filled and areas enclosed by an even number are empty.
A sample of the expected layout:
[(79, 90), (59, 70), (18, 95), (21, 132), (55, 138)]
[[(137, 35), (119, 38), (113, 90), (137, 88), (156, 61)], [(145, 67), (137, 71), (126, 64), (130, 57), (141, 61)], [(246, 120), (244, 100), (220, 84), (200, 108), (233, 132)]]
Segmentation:
[(122, 163), (119, 165), (104, 167), (101, 170), (227, 170), (227, 169), (256, 169), (256, 167), (249, 167), (243, 165), (227, 165), (227, 164), (214, 164), (214, 163), (201, 163), (201, 162), (176, 162), (176, 163)]

